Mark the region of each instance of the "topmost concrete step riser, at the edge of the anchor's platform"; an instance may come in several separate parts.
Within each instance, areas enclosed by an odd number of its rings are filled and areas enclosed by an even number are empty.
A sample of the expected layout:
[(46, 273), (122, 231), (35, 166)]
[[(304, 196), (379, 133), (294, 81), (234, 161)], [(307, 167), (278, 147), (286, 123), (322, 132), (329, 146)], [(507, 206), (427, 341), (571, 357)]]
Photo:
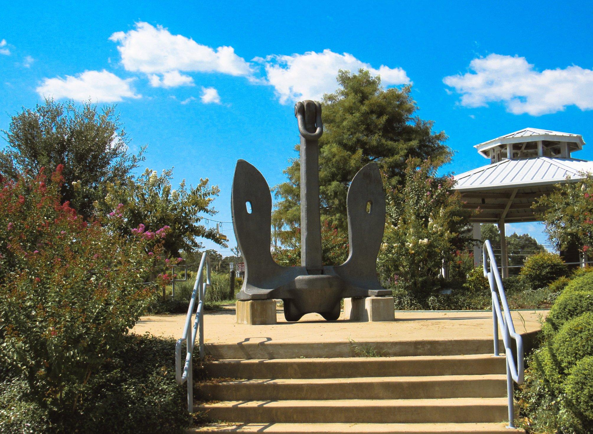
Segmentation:
[[(503, 348), (502, 341), (500, 347)], [(393, 340), (383, 342), (264, 342), (211, 343), (214, 359), (298, 359), (355, 357), (355, 346), (374, 347), (384, 356), (452, 356), (492, 353), (490, 339)]]

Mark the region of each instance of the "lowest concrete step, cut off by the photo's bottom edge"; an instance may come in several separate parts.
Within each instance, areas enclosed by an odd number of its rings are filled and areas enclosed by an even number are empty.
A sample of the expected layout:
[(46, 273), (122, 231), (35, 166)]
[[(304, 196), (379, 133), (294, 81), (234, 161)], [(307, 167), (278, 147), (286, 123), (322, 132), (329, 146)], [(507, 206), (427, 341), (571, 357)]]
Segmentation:
[[(256, 432), (267, 434), (508, 434), (509, 429), (506, 427), (506, 423), (244, 423), (241, 425), (213, 423), (186, 431), (187, 434), (200, 432), (217, 432), (219, 434)], [(525, 433), (522, 429), (512, 432)]]

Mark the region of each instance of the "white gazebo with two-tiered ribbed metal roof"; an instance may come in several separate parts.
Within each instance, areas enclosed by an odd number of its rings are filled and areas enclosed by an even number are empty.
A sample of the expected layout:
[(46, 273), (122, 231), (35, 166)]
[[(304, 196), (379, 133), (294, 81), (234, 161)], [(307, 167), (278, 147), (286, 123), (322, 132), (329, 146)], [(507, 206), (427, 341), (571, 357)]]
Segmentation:
[[(579, 134), (525, 128), (474, 146), (490, 164), (455, 175), (455, 190), (467, 209), (480, 212), (471, 218), (473, 237), (480, 238), (481, 223), (496, 223), (500, 229), (503, 277), (508, 276), (505, 223), (533, 222), (535, 199), (551, 192), (554, 185), (579, 181), (593, 173), (593, 162), (572, 157), (585, 142)], [(475, 260), (482, 257), (479, 245)]]

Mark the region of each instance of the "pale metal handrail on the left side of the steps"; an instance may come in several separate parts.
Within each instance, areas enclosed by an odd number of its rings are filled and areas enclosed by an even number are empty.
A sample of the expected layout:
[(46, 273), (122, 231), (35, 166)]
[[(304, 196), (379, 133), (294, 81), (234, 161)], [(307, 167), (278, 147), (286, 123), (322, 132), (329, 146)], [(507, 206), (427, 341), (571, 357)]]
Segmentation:
[[(203, 281), (204, 267), (206, 267), (206, 282)], [(187, 308), (183, 334), (175, 345), (175, 379), (178, 384), (183, 384), (187, 381), (187, 411), (190, 413), (193, 413), (193, 349), (196, 344), (196, 336), (199, 335), (199, 355), (200, 359), (204, 358), (204, 295), (210, 285), (210, 257), (208, 253), (204, 253), (200, 261), (200, 267), (197, 270), (196, 283), (193, 285), (192, 299)], [(197, 307), (194, 309), (196, 298)], [(194, 313), (196, 314), (196, 318), (193, 320), (192, 335), (190, 339), (187, 339), (190, 334), (190, 326)], [(183, 343), (186, 343), (186, 354), (185, 363), (181, 365), (181, 345)]]

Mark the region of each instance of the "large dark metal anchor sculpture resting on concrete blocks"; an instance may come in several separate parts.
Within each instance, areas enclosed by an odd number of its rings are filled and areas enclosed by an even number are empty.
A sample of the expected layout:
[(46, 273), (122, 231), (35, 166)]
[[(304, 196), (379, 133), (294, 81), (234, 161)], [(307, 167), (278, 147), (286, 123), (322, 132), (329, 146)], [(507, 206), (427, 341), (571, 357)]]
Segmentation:
[(391, 295), (376, 272), (385, 225), (385, 194), (377, 164), (365, 165), (347, 194), (349, 256), (339, 266), (321, 263), (319, 146), (321, 105), (295, 105), (301, 135), (301, 266), (283, 267), (272, 259), (272, 195), (262, 174), (240, 159), (232, 181), (231, 212), (237, 244), (245, 261), (241, 301), (282, 299), (287, 321), (317, 312), (337, 320), (346, 297)]

